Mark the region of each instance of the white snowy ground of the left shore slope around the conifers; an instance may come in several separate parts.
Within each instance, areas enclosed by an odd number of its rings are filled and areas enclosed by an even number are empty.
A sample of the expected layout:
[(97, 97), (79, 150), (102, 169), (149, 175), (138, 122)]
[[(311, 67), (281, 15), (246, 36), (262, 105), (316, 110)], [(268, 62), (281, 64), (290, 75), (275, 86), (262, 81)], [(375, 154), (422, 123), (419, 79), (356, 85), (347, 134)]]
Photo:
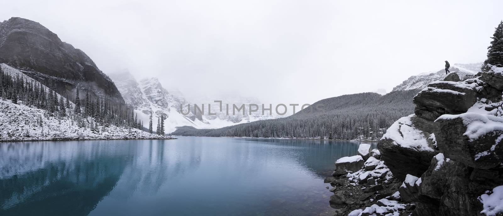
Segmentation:
[[(7, 64), (0, 64), (2, 70), (12, 75), (19, 76), (27, 82), (37, 82)], [(38, 84), (38, 83), (37, 83)], [(42, 86), (45, 91), (49, 88)], [(60, 95), (56, 94), (58, 97)], [(74, 107), (73, 103), (70, 103)], [(53, 140), (53, 139), (143, 139), (143, 138), (169, 138), (150, 134), (145, 131), (118, 127), (115, 125), (101, 125), (94, 118), (89, 117), (83, 121), (86, 127), (77, 126), (73, 109), (67, 111), (69, 116), (57, 117), (35, 107), (18, 104), (10, 100), (0, 100), (0, 141), (9, 140)], [(73, 116), (73, 117), (70, 117)]]

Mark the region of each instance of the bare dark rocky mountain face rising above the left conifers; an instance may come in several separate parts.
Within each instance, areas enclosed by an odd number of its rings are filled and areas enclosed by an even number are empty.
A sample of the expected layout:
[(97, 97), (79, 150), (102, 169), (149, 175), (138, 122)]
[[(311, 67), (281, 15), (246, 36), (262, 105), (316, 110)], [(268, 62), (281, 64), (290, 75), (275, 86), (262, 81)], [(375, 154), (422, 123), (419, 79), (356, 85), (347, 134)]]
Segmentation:
[(117, 87), (82, 50), (37, 22), (13, 17), (0, 22), (0, 63), (7, 63), (61, 95), (75, 89), (124, 104)]

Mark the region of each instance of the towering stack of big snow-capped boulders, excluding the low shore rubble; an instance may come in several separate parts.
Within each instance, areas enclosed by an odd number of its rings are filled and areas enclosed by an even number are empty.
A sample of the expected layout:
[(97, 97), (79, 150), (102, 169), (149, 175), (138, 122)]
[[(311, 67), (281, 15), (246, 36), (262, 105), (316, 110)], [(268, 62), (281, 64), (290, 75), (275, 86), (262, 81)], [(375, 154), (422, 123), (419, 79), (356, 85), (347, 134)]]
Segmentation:
[[(459, 80), (450, 75), (414, 97), (414, 114), (378, 143), (381, 159), (404, 184), (412, 215), (503, 215), (503, 67)], [(409, 178), (409, 176), (412, 176)]]

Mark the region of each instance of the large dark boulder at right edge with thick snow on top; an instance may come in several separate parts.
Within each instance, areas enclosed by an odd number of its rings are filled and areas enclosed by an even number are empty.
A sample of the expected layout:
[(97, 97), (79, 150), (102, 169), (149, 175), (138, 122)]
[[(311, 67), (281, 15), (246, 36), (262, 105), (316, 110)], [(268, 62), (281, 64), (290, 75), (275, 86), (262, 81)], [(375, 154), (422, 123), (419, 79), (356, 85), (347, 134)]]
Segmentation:
[(443, 115), (436, 122), (438, 148), (446, 157), (478, 169), (501, 166), (503, 118), (463, 113)]

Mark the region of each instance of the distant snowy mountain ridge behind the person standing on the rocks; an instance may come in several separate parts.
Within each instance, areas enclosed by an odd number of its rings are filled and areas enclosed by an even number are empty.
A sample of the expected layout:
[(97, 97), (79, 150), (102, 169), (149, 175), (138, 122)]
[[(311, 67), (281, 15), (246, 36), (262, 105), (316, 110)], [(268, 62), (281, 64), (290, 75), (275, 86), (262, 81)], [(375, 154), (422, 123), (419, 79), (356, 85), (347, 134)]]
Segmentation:
[[(476, 74), (478, 72), (477, 68), (480, 68), (480, 65), (481, 63), (454, 64), (454, 66), (451, 66), (449, 68), (449, 71), (457, 72), (459, 78), (463, 79), (467, 75)], [(445, 69), (441, 69), (433, 73), (422, 73), (408, 78), (407, 80), (403, 81), (403, 83), (393, 88), (392, 91), (423, 89), (431, 82), (443, 80), (445, 76)]]

